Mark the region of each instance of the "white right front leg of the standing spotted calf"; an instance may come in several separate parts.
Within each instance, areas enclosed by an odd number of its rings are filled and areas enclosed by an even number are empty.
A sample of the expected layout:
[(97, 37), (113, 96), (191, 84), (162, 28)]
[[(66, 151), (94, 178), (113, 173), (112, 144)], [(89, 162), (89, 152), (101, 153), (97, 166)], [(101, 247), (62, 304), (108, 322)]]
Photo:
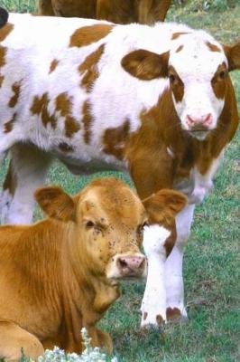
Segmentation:
[(187, 319), (184, 307), (182, 259), (184, 246), (189, 239), (195, 205), (187, 205), (176, 217), (177, 241), (165, 262), (165, 286), (167, 293), (167, 319)]

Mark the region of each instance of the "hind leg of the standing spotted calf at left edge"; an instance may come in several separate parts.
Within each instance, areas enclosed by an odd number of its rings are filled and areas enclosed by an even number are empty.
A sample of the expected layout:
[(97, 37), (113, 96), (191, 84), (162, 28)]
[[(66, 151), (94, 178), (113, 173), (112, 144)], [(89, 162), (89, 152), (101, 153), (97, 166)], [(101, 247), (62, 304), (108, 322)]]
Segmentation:
[(16, 144), (0, 198), (1, 224), (29, 224), (33, 193), (44, 184), (51, 157), (32, 145)]

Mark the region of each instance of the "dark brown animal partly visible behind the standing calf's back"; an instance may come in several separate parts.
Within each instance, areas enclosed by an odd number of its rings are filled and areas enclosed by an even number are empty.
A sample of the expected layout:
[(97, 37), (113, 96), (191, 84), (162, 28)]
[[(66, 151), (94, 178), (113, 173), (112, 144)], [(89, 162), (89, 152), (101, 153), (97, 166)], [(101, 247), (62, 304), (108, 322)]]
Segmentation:
[(164, 21), (171, 0), (40, 0), (42, 15), (87, 17), (117, 24)]

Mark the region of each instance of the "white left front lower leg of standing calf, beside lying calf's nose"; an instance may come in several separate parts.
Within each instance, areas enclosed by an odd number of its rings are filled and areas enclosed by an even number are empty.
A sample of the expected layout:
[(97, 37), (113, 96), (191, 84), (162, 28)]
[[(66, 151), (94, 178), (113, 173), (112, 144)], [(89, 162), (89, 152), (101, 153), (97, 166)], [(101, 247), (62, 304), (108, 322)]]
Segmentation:
[(144, 228), (143, 248), (148, 259), (148, 275), (141, 306), (141, 327), (159, 328), (166, 320), (164, 285), (164, 243), (170, 232), (160, 225)]

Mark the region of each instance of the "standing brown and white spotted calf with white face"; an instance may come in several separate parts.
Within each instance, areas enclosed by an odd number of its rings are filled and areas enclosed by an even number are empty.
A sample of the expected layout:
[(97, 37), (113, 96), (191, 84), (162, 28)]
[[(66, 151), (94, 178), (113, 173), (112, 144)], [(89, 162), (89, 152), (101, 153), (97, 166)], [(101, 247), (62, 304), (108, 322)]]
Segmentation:
[(11, 14), (0, 39), (0, 155), (11, 154), (2, 222), (31, 222), (33, 191), (52, 157), (78, 174), (127, 170), (142, 199), (162, 188), (184, 192), (172, 251), (173, 231), (164, 255), (159, 224), (144, 236), (151, 271), (142, 325), (186, 316), (183, 247), (237, 127), (229, 71), (240, 67), (240, 43), (225, 46), (183, 24), (29, 14)]

